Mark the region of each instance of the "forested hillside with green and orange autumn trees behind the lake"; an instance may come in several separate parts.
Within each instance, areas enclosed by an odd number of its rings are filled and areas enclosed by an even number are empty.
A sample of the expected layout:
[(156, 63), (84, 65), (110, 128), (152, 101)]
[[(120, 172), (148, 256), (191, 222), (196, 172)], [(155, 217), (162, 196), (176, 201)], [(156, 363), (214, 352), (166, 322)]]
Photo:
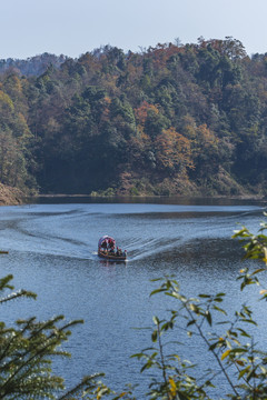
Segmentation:
[(267, 194), (267, 53), (231, 37), (0, 60), (0, 182), (27, 193)]

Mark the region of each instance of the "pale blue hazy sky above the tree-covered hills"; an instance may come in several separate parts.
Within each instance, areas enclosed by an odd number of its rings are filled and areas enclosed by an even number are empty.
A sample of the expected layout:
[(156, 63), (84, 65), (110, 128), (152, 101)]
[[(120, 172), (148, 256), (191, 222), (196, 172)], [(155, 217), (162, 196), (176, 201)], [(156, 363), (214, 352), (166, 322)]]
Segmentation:
[(0, 59), (231, 36), (267, 52), (267, 0), (0, 0)]

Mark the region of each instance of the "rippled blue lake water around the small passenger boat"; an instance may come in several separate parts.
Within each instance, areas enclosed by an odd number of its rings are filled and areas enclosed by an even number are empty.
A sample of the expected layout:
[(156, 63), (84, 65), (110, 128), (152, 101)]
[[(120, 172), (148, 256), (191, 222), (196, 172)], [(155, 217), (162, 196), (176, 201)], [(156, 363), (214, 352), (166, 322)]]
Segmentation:
[[(258, 230), (264, 203), (201, 199), (43, 201), (47, 203), (0, 208), (1, 249), (9, 250), (0, 258), (1, 277), (12, 273), (17, 289), (38, 293), (37, 301), (24, 299), (2, 307), (1, 320), (12, 322), (30, 316), (42, 320), (61, 313), (67, 320), (85, 320), (67, 343), (71, 360), (55, 363), (67, 387), (85, 374), (103, 371), (112, 388), (122, 390), (126, 383), (139, 383), (137, 397), (145, 398), (150, 372), (140, 376), (141, 364), (130, 356), (150, 346), (150, 332), (134, 328), (152, 327), (152, 316), (167, 317), (166, 309), (174, 307), (167, 297), (149, 298), (157, 288), (151, 279), (166, 274), (174, 274), (187, 296), (227, 290), (229, 313), (243, 301), (256, 304), (259, 340), (264, 342), (264, 304), (256, 303), (255, 288), (249, 299), (248, 292), (239, 292), (236, 277), (244, 267), (243, 249), (230, 239), (237, 223)], [(126, 264), (98, 258), (102, 234), (111, 234), (127, 249)], [(178, 351), (198, 362), (200, 370), (204, 364), (212, 368), (212, 360), (195, 339)]]

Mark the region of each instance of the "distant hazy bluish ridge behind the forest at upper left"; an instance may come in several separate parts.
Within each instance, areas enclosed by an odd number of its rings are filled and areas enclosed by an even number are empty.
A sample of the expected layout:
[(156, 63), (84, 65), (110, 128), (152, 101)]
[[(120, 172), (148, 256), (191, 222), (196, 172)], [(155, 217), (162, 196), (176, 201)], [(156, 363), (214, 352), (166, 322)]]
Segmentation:
[(48, 52), (27, 59), (0, 59), (0, 73), (13, 71), (26, 77), (39, 77), (46, 72), (48, 67), (52, 66), (58, 69), (68, 59), (67, 56)]

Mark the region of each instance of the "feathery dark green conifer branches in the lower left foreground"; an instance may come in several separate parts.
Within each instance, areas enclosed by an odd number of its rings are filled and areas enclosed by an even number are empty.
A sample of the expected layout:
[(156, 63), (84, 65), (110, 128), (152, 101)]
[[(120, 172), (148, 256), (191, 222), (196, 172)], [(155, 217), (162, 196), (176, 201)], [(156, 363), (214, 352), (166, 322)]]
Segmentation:
[[(0, 279), (0, 292), (13, 290), (10, 284), (12, 276)], [(0, 306), (7, 307), (11, 300), (23, 297), (36, 299), (27, 290), (12, 292), (0, 299)], [(75, 388), (63, 393), (63, 379), (52, 373), (51, 363), (55, 357), (69, 357), (61, 349), (68, 340), (71, 329), (81, 320), (63, 322), (62, 316), (39, 322), (36, 317), (20, 319), (14, 327), (0, 322), (0, 398), (14, 399), (73, 399), (95, 390), (107, 392), (105, 386), (96, 382), (98, 374), (85, 377)], [(83, 393), (83, 394), (82, 394)]]

